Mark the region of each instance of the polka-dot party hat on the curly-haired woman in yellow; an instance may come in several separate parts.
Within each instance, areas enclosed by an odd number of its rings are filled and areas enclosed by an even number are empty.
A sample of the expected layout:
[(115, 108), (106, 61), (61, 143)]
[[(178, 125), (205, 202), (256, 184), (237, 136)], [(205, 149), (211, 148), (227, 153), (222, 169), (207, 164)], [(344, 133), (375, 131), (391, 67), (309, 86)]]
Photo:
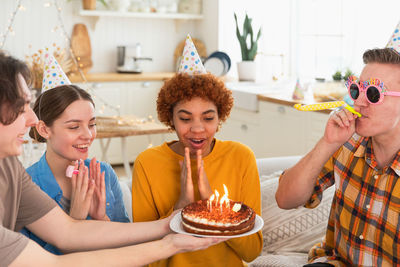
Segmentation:
[(178, 72), (184, 72), (190, 75), (207, 73), (189, 34), (186, 37), (185, 47), (183, 49), (182, 60)]

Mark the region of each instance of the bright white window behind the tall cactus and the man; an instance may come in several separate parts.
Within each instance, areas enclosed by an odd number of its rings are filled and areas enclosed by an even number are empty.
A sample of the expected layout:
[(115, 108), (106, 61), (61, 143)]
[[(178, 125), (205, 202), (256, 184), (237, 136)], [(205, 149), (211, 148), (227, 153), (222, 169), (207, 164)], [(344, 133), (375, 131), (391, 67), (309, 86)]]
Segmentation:
[(220, 0), (219, 49), (233, 62), (241, 60), (233, 12), (242, 23), (247, 11), (253, 27), (263, 29), (256, 59), (261, 77), (283, 72), (331, 79), (347, 68), (359, 74), (363, 52), (386, 45), (400, 20), (399, 9), (398, 0)]

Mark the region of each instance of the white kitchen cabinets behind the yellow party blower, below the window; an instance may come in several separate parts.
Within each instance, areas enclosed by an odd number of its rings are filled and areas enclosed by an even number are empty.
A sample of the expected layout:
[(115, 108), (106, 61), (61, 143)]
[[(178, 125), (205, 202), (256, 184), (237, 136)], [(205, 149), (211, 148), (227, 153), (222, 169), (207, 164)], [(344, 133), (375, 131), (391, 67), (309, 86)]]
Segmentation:
[(258, 111), (234, 107), (217, 137), (249, 146), (257, 158), (302, 155), (322, 137), (328, 114), (259, 101)]

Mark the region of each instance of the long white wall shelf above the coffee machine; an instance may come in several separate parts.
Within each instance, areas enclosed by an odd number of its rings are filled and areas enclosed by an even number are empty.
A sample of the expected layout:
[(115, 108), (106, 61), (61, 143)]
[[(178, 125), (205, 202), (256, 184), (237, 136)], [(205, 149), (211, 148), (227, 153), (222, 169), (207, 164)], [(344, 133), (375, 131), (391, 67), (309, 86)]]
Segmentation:
[(79, 15), (89, 17), (130, 17), (150, 19), (203, 19), (203, 15), (186, 13), (119, 12), (109, 10), (80, 10)]

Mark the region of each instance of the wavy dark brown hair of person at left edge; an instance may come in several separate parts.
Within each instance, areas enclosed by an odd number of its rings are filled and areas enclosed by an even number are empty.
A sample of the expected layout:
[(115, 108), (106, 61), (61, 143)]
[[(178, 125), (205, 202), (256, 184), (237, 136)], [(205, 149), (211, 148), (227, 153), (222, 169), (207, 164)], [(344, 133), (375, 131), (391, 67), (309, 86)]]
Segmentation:
[(31, 73), (28, 66), (0, 50), (0, 123), (13, 123), (24, 110), (26, 96), (18, 80), (21, 74), (29, 85)]

